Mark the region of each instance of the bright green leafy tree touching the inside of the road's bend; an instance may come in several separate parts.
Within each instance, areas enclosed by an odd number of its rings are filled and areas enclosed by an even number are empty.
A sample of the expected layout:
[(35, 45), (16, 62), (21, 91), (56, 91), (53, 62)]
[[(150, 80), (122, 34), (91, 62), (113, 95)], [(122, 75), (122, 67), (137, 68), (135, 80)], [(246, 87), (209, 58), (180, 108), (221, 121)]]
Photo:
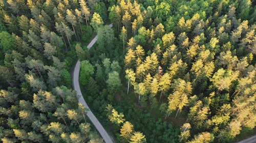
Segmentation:
[(79, 81), (82, 85), (86, 85), (89, 81), (89, 77), (94, 73), (94, 67), (89, 63), (89, 61), (81, 62), (81, 72), (79, 76)]

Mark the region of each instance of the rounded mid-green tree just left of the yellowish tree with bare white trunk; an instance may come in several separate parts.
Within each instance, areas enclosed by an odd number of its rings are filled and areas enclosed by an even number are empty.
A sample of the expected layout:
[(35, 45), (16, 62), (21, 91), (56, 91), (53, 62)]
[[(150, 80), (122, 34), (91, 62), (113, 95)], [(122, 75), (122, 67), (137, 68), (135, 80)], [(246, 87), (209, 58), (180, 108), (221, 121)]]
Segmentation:
[(119, 73), (116, 71), (109, 73), (109, 78), (106, 80), (106, 83), (108, 84), (108, 89), (110, 93), (114, 94), (117, 93), (117, 91), (120, 90), (121, 87), (121, 80), (119, 77)]

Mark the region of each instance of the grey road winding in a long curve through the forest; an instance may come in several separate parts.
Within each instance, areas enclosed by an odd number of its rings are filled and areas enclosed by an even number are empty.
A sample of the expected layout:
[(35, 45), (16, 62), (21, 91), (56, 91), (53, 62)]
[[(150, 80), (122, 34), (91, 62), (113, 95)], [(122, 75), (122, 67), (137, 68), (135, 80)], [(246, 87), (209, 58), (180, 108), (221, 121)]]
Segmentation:
[[(112, 27), (112, 24), (109, 24), (110, 27)], [(95, 36), (95, 38), (91, 41), (91, 43), (87, 46), (88, 49), (90, 49), (94, 43), (97, 41), (97, 36)], [(80, 72), (80, 61), (78, 60), (73, 72), (73, 88), (76, 91), (76, 94), (78, 95), (79, 99), (78, 101), (80, 103), (83, 104), (83, 106), (85, 106), (86, 108), (89, 109), (89, 111), (87, 112), (87, 116), (88, 118), (91, 120), (91, 122), (93, 123), (93, 125), (95, 126), (95, 128), (98, 130), (98, 132), (100, 133), (100, 135), (102, 136), (102, 138), (104, 139), (104, 141), (106, 143), (114, 143), (114, 141), (112, 140), (112, 138), (110, 137), (110, 135), (105, 131), (105, 129), (102, 127), (102, 125), (100, 124), (100, 122), (98, 121), (98, 119), (94, 116), (93, 112), (90, 110), (89, 106), (87, 105), (86, 101), (83, 99), (81, 90), (80, 90), (80, 85), (79, 85), (79, 72)]]

